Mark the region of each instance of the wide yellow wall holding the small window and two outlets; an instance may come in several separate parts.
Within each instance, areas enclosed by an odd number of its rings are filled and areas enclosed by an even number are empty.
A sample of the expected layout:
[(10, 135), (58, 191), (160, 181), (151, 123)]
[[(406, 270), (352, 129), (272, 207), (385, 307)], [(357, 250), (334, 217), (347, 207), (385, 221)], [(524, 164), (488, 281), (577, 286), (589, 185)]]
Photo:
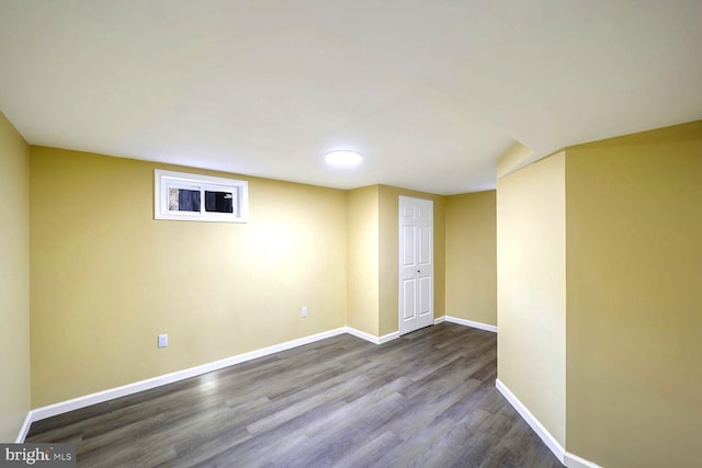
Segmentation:
[(240, 178), (248, 224), (155, 220), (155, 168), (188, 171), (32, 147), (33, 407), (346, 324), (343, 191)]

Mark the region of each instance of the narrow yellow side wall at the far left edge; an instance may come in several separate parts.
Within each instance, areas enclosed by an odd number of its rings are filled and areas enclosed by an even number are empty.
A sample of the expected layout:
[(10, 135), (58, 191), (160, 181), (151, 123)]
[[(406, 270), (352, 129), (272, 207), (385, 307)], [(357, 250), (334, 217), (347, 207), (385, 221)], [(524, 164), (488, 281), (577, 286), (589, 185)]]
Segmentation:
[(30, 147), (0, 113), (0, 442), (30, 410)]

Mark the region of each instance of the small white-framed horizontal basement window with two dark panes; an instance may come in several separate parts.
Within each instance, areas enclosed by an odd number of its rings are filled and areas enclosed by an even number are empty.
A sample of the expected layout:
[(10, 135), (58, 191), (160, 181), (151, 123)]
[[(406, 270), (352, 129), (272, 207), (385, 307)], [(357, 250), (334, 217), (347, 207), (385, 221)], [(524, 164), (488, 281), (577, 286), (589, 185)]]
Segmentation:
[(160, 169), (154, 173), (156, 219), (247, 221), (248, 182)]

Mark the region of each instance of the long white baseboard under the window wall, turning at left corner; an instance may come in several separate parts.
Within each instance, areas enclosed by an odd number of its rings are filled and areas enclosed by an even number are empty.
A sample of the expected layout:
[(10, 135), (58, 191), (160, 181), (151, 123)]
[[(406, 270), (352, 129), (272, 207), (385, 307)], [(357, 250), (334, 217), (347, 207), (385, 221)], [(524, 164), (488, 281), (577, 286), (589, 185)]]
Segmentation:
[(244, 363), (247, 361), (256, 359), (257, 357), (268, 356), (281, 351), (291, 350), (293, 347), (302, 346), (304, 344), (314, 343), (319, 340), (336, 336), (347, 333), (347, 327), (341, 327), (335, 330), (329, 330), (322, 333), (304, 336), (297, 340), (287, 341), (285, 343), (274, 344), (272, 346), (262, 347), (248, 353), (237, 354), (231, 357), (215, 361), (212, 363), (203, 364), (200, 366), (191, 367), (183, 370), (178, 370), (170, 374), (165, 374), (158, 377), (149, 378), (146, 380), (127, 384), (122, 387), (111, 388), (107, 390), (99, 391), (84, 397), (73, 398), (71, 400), (61, 401), (58, 403), (49, 404), (46, 407), (36, 408), (31, 410), (20, 430), (18, 435), (18, 442), (24, 442), (30, 425), (35, 421), (41, 421), (46, 418), (52, 418), (58, 414), (67, 413), (69, 411), (78, 410), (80, 408), (90, 407), (91, 404), (102, 403), (104, 401), (113, 400), (115, 398), (126, 397), (128, 395), (137, 393), (139, 391), (149, 390), (151, 388), (160, 387), (174, 381), (184, 380), (190, 377), (195, 377), (202, 374), (206, 374), (213, 370), (218, 370), (224, 367), (233, 366), (235, 364)]

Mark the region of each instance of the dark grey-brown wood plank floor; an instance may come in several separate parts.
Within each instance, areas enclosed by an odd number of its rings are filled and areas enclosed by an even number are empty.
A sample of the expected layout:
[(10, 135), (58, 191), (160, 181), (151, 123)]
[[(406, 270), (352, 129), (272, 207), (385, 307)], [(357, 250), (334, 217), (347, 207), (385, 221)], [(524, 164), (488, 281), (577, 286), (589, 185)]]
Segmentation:
[(561, 467), (495, 389), (494, 333), (340, 335), (32, 424), (79, 466)]

